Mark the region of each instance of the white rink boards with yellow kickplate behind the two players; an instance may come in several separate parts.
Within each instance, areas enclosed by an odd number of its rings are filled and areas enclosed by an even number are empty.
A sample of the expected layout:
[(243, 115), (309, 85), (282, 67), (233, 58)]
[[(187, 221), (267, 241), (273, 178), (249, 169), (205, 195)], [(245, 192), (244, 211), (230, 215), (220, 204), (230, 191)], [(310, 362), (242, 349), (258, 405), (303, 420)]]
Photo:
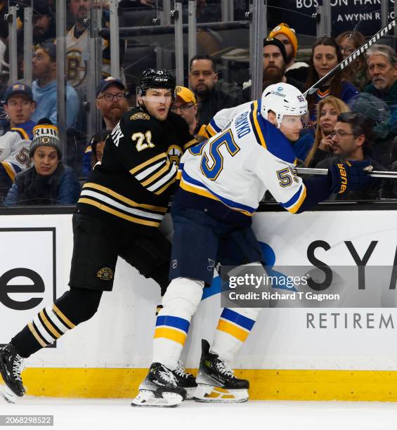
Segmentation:
[[(67, 290), (71, 218), (0, 215), (0, 344)], [(169, 219), (163, 229), (171, 233)], [(340, 299), (263, 309), (234, 363), (250, 379), (251, 398), (397, 400), (396, 212), (261, 212), (254, 230), (274, 268), (317, 260), (339, 272), (332, 287), (301, 291)], [(371, 267), (376, 276), (368, 275)], [(93, 319), (28, 360), (29, 393), (133, 396), (150, 364), (159, 297), (154, 282), (119, 260), (113, 292), (103, 294)], [(220, 312), (215, 281), (190, 325), (186, 367), (197, 368), (200, 339), (212, 340)]]

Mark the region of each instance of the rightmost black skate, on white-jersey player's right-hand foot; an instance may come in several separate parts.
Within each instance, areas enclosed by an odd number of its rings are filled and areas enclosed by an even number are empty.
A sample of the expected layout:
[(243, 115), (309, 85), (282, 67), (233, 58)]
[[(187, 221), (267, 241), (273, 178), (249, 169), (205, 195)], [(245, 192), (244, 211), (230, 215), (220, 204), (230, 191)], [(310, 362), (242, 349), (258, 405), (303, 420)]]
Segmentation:
[(209, 343), (202, 339), (202, 354), (197, 373), (197, 402), (241, 403), (248, 400), (249, 382), (237, 379), (233, 370), (216, 354), (209, 352)]

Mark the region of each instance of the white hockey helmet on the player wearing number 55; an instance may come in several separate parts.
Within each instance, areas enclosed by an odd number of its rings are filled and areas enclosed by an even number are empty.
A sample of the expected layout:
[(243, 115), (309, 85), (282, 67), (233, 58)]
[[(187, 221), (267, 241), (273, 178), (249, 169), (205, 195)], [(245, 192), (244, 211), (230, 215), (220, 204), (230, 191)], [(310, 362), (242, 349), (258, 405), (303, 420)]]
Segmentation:
[(304, 95), (293, 85), (280, 82), (266, 87), (262, 93), (261, 115), (268, 119), (268, 111), (272, 110), (280, 128), (284, 115), (306, 115), (307, 101)]

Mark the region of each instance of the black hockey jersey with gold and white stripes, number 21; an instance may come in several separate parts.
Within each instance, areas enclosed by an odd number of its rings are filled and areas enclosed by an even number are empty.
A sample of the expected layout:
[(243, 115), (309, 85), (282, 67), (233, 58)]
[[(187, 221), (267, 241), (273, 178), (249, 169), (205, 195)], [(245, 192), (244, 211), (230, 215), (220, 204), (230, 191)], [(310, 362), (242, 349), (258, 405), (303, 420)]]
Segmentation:
[(186, 121), (174, 112), (165, 121), (139, 108), (126, 112), (83, 185), (77, 211), (139, 232), (157, 228), (179, 159), (195, 143)]

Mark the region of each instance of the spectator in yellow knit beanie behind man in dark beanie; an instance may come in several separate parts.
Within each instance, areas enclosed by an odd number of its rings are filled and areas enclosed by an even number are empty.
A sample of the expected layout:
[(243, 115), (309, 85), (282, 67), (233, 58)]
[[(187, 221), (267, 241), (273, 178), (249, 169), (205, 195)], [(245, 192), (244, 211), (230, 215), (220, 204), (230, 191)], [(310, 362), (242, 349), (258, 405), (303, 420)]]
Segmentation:
[(284, 44), (286, 51), (285, 77), (287, 79), (291, 78), (296, 79), (299, 82), (305, 82), (308, 72), (308, 64), (302, 61), (295, 62), (298, 51), (298, 39), (295, 34), (295, 30), (283, 22), (274, 27), (269, 33), (269, 36), (275, 37), (275, 39), (280, 40), (282, 44)]

